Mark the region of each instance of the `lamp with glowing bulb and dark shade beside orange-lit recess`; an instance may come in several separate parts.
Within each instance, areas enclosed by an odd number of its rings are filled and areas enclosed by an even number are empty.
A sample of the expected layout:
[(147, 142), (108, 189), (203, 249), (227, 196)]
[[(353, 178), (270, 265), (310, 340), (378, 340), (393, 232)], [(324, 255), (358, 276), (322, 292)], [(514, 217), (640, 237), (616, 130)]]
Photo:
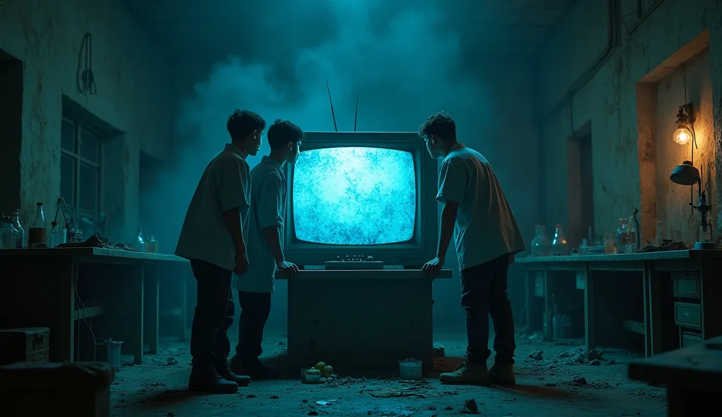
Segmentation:
[(692, 144), (692, 161), (684, 161), (682, 164), (674, 167), (669, 179), (672, 183), (679, 185), (688, 185), (694, 187), (697, 184), (697, 206), (690, 201), (690, 206), (696, 208), (700, 212), (700, 234), (698, 241), (695, 242), (695, 249), (709, 250), (717, 249), (712, 236), (712, 226), (709, 221), (708, 214), (712, 210), (712, 206), (707, 203), (707, 195), (702, 187), (702, 175), (694, 164), (695, 146), (697, 146), (697, 138), (695, 137), (695, 128), (692, 126), (692, 105), (686, 104), (679, 106), (677, 114), (677, 131), (674, 131), (672, 139), (677, 144)]

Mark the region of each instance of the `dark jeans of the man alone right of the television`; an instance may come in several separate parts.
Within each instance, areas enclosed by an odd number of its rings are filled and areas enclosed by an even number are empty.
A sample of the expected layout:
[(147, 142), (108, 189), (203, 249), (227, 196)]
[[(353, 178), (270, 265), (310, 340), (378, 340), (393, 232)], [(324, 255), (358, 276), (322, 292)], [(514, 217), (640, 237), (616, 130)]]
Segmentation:
[(466, 348), (469, 361), (486, 363), (489, 350), (489, 316), (494, 323), (495, 361), (513, 364), (514, 318), (507, 290), (509, 256), (461, 271), (461, 307), (466, 311)]

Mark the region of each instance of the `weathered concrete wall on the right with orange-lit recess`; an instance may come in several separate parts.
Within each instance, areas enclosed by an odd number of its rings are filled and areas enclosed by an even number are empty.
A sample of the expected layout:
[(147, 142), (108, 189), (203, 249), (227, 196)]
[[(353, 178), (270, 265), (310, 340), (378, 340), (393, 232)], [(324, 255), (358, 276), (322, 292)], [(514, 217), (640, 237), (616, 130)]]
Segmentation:
[[(619, 45), (571, 97), (568, 93), (576, 80), (606, 46), (607, 2), (578, 1), (543, 54), (538, 113), (541, 157), (546, 167), (545, 221), (547, 225), (566, 225), (572, 216), (566, 142), (573, 129), (589, 123), (596, 232), (613, 232), (617, 219), (644, 205), (645, 237), (656, 234), (654, 225), (661, 219), (671, 237), (676, 234), (694, 241), (696, 214), (691, 218), (687, 206), (690, 191), (668, 184), (674, 165), (687, 159), (684, 155), (690, 151), (671, 141), (676, 108), (684, 101), (684, 82), (677, 69), (683, 63), (687, 67), (689, 101), (700, 108), (695, 124), (700, 149), (695, 164), (703, 166), (705, 177), (709, 173), (713, 179), (708, 191), (718, 212), (722, 128), (722, 22), (718, 17), (722, 2), (663, 0), (652, 7), (653, 2), (643, 1), (642, 16), (634, 13), (637, 1), (617, 3), (620, 14), (627, 15), (619, 23)], [(645, 16), (646, 12), (651, 14)], [(703, 51), (705, 38), (708, 52)], [(690, 60), (700, 51), (702, 56)], [(638, 120), (638, 111), (653, 116)], [(646, 196), (647, 203), (643, 204), (640, 195)], [(656, 207), (651, 208), (649, 201)]]

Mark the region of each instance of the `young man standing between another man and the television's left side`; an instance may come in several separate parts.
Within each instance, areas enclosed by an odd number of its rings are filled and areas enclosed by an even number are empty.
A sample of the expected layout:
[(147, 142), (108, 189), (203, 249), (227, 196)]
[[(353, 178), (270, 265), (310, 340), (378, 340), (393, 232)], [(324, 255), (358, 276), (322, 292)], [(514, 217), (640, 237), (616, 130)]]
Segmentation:
[(277, 369), (266, 367), (258, 356), (261, 356), (264, 326), (271, 312), (271, 294), (276, 284), (274, 273), (279, 270), (290, 277), (298, 272), (296, 265), (287, 262), (283, 255), (287, 203), (284, 164), (298, 159), (303, 131), (279, 119), (269, 127), (266, 136), (271, 152), (251, 170), (248, 256), (253, 264), (248, 271), (233, 278), (241, 310), (238, 346), (231, 369), (253, 379), (274, 379), (281, 375)]

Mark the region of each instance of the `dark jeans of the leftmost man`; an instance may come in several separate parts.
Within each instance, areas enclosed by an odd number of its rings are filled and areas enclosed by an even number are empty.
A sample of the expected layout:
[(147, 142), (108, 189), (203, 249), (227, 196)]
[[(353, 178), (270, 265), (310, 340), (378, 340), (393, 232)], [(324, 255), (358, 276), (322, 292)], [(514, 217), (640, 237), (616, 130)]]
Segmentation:
[(191, 268), (198, 283), (196, 315), (191, 330), (193, 365), (222, 364), (230, 354), (228, 329), (235, 314), (230, 291), (232, 271), (203, 260), (191, 260)]

